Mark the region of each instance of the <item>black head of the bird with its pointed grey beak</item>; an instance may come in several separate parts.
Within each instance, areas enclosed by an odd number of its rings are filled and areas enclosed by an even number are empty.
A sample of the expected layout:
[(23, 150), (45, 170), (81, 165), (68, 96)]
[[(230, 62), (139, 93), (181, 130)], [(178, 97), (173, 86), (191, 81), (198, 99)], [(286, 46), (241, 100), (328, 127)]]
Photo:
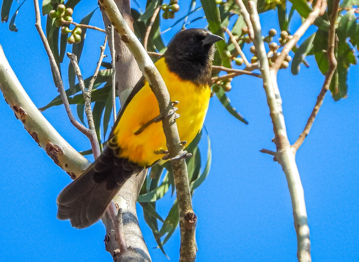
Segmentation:
[(191, 28), (177, 33), (164, 53), (169, 70), (183, 80), (209, 84), (214, 43), (223, 40), (209, 30)]

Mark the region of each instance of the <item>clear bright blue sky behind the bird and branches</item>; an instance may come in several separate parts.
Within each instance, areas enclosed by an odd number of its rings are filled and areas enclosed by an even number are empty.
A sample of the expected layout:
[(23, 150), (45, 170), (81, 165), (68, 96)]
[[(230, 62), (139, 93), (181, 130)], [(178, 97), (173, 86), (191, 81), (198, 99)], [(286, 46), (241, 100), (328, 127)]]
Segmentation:
[[(96, 5), (97, 1), (81, 4), (75, 21)], [(274, 12), (261, 16), (264, 31), (279, 31), (274, 16)], [(0, 44), (24, 89), (41, 107), (57, 91), (34, 23), (33, 3), (27, 1), (17, 18), (19, 32), (10, 32), (8, 24), (0, 25)], [(103, 27), (99, 11), (91, 24)], [(194, 26), (204, 24), (199, 21)], [(175, 30), (163, 35), (166, 42)], [(102, 33), (88, 30), (80, 61), (85, 76), (94, 71), (102, 42)], [(308, 62), (311, 67), (302, 66), (299, 75), (293, 76), (287, 69), (280, 70), (278, 77), (292, 143), (302, 132), (324, 80), (313, 57)], [(358, 73), (358, 67), (350, 68), (347, 99), (334, 102), (330, 94), (326, 96), (311, 133), (297, 153), (313, 261), (356, 261), (359, 257)], [(284, 173), (269, 155), (259, 152), (275, 148), (262, 83), (240, 76), (232, 86), (228, 93), (231, 102), (249, 124), (234, 119), (215, 97), (211, 99), (205, 125), (211, 139), (212, 165), (207, 180), (193, 197), (198, 216), (197, 261), (296, 261), (292, 205)], [(56, 219), (56, 197), (70, 177), (37, 146), (2, 96), (0, 112), (1, 260), (111, 261), (104, 249), (101, 221), (78, 230), (68, 221)], [(77, 150), (89, 148), (87, 138), (70, 124), (62, 106), (48, 109), (44, 115)], [(165, 216), (172, 202), (170, 196), (160, 200), (159, 213)], [(153, 261), (167, 261), (159, 249), (153, 249), (157, 244), (143, 221), (140, 206), (138, 215)], [(164, 246), (171, 261), (178, 260), (179, 243), (177, 229)]]

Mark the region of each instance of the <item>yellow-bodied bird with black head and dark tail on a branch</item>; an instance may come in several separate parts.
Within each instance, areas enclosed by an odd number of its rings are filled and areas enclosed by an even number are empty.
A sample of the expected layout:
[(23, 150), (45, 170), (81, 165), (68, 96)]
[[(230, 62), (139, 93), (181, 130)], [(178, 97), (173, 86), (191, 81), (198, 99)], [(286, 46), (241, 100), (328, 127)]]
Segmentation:
[[(174, 35), (155, 62), (180, 117), (181, 141), (190, 144), (202, 129), (211, 94), (211, 71), (222, 37), (201, 28)], [(144, 76), (118, 113), (100, 156), (57, 197), (57, 218), (86, 228), (102, 218), (118, 190), (134, 173), (152, 166), (167, 150), (155, 95)], [(157, 119), (157, 122), (155, 121)]]

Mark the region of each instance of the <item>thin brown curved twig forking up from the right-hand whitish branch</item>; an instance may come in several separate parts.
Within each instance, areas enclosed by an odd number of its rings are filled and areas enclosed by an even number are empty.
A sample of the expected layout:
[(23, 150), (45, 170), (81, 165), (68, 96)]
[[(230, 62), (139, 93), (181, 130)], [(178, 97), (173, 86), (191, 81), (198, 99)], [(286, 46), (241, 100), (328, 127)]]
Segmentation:
[(292, 148), (297, 151), (298, 148), (302, 145), (302, 143), (304, 142), (304, 139), (307, 137), (307, 135), (309, 134), (312, 125), (314, 123), (314, 120), (318, 114), (318, 111), (321, 107), (321, 105), (323, 104), (323, 100), (324, 97), (327, 93), (327, 91), (329, 90), (329, 86), (330, 86), (330, 82), (333, 78), (334, 72), (336, 70), (337, 67), (337, 61), (335, 58), (335, 54), (334, 54), (334, 50), (335, 50), (335, 28), (336, 28), (336, 20), (338, 17), (338, 10), (339, 10), (339, 0), (334, 1), (334, 6), (333, 6), (333, 11), (332, 14), (330, 16), (330, 28), (329, 28), (329, 35), (328, 35), (328, 51), (327, 51), (327, 56), (328, 56), (328, 60), (329, 60), (329, 69), (328, 72), (325, 75), (325, 80), (322, 86), (322, 89), (317, 97), (317, 101), (316, 104), (312, 110), (311, 115), (308, 118), (307, 124), (304, 127), (303, 132), (299, 135), (299, 138), (297, 139), (297, 141), (295, 141), (295, 143), (293, 144)]

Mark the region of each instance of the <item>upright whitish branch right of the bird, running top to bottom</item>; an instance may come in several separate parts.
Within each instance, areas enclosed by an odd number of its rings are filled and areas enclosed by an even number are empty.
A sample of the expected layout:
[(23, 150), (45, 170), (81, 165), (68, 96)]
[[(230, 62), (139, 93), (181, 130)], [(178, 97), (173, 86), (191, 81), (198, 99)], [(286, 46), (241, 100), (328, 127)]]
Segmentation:
[[(297, 257), (299, 262), (310, 262), (310, 237), (307, 219), (307, 211), (304, 200), (303, 186), (300, 181), (300, 176), (295, 162), (295, 152), (290, 147), (288, 136), (286, 133), (284, 115), (282, 110), (282, 100), (277, 84), (278, 70), (271, 70), (268, 63), (264, 42), (262, 39), (261, 24), (257, 12), (256, 2), (248, 1), (248, 10), (241, 12), (250, 14), (250, 23), (253, 26), (254, 38), (253, 44), (258, 54), (258, 61), (260, 63), (260, 71), (263, 78), (263, 87), (267, 97), (267, 104), (270, 110), (270, 117), (272, 119), (273, 131), (275, 138), (273, 142), (276, 145), (275, 158), (282, 166), (288, 181), (288, 189), (292, 199), (294, 227), (297, 233)], [(246, 23), (248, 23), (246, 21)], [(247, 24), (250, 28), (250, 24)], [(266, 152), (268, 153), (268, 152)]]

